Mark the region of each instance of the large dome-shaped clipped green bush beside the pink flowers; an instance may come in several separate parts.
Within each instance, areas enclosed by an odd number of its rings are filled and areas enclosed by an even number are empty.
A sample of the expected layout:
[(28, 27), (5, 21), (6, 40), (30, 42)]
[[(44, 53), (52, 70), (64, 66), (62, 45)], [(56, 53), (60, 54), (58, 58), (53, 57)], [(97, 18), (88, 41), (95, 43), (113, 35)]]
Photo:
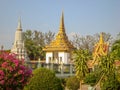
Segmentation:
[(38, 68), (33, 71), (33, 77), (25, 90), (63, 90), (63, 87), (53, 71)]

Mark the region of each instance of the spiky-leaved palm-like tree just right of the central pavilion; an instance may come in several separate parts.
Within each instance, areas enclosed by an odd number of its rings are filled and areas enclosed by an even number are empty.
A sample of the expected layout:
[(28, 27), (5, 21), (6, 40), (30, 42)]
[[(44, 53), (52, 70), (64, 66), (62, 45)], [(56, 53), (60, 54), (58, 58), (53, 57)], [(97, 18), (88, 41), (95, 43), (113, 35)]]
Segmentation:
[(87, 61), (90, 60), (88, 50), (75, 50), (73, 52), (76, 76), (80, 80), (80, 90), (82, 90), (82, 81), (89, 72)]

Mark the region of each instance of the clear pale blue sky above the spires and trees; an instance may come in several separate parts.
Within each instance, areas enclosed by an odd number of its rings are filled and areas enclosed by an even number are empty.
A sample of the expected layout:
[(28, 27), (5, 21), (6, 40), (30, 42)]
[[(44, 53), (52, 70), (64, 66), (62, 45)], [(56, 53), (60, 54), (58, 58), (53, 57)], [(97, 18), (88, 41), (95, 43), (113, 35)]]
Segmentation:
[(120, 0), (0, 0), (0, 46), (11, 49), (19, 17), (23, 31), (57, 33), (62, 10), (67, 34), (120, 32)]

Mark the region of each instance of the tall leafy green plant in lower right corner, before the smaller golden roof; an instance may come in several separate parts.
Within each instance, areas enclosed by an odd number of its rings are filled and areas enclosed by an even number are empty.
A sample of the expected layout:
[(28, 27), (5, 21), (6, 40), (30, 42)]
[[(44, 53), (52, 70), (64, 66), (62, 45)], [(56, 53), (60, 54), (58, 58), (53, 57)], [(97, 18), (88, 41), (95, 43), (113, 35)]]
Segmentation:
[(119, 90), (117, 89), (120, 87), (117, 74), (118, 71), (112, 53), (108, 53), (106, 56), (100, 58), (100, 62), (93, 73), (96, 73), (96, 71), (99, 71), (98, 77), (91, 77), (92, 79), (97, 79), (95, 87), (100, 84), (101, 90)]

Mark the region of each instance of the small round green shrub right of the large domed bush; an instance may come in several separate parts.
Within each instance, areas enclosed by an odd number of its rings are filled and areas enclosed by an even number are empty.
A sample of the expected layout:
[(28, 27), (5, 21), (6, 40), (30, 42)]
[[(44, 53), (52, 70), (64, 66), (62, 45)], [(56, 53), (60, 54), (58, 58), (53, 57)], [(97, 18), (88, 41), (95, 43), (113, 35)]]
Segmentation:
[(80, 86), (80, 81), (75, 77), (69, 77), (66, 81), (66, 87), (70, 90), (77, 90)]

